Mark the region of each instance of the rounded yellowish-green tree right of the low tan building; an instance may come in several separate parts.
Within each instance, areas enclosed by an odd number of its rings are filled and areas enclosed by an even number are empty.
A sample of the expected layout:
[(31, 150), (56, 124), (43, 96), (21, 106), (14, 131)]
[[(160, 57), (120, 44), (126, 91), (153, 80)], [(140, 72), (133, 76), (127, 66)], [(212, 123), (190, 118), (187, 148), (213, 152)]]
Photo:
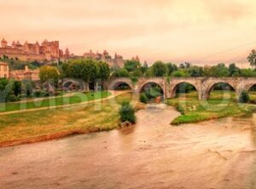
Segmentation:
[(39, 77), (42, 83), (49, 81), (57, 83), (60, 77), (60, 73), (54, 66), (42, 66), (39, 69)]

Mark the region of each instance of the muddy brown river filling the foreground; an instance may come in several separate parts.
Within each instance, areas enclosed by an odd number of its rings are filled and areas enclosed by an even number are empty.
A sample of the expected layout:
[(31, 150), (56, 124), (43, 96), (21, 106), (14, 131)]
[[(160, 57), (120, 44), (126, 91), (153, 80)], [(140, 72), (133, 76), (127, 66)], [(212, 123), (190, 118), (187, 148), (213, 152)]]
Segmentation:
[(177, 116), (148, 108), (129, 128), (0, 149), (0, 188), (256, 188), (256, 114)]

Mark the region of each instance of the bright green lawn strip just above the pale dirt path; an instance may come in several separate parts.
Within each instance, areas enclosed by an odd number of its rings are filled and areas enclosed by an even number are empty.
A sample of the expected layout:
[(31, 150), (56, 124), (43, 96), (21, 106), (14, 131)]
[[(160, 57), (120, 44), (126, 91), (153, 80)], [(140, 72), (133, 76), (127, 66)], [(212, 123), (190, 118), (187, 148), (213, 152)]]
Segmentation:
[(84, 101), (97, 100), (108, 97), (111, 93), (108, 91), (101, 92), (88, 92), (88, 93), (76, 93), (72, 96), (57, 96), (55, 98), (47, 98), (44, 100), (37, 101), (28, 101), (20, 103), (1, 103), (0, 112), (10, 112), (10, 111), (19, 111), (40, 107), (49, 107), (49, 106), (61, 106), (61, 105), (71, 105), (77, 104)]

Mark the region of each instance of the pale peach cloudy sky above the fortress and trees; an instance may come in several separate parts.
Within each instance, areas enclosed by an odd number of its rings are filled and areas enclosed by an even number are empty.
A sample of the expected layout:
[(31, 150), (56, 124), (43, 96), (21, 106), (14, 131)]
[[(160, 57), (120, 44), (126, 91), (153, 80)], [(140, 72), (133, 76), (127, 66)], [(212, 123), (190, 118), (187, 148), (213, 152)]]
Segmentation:
[(194, 64), (247, 65), (256, 48), (254, 0), (0, 0), (0, 37), (60, 41), (74, 54), (107, 49)]

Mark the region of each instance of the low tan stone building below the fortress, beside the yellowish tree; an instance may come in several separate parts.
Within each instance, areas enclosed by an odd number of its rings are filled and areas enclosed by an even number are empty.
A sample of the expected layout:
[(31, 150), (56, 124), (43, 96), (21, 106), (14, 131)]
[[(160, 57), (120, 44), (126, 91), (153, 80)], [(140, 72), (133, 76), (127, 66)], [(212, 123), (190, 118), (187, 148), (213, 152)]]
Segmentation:
[(15, 70), (9, 73), (9, 77), (18, 81), (22, 80), (39, 80), (39, 69), (31, 70), (28, 66), (25, 66), (25, 70)]

